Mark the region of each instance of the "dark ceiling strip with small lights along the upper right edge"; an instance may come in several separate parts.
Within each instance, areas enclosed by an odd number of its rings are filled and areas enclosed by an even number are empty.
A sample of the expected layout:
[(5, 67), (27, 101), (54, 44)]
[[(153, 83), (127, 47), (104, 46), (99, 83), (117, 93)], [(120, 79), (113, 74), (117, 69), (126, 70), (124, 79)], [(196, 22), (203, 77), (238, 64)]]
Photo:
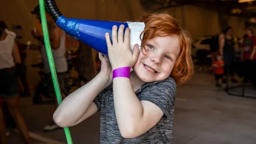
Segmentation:
[[(195, 5), (238, 17), (256, 17), (256, 1), (238, 3), (238, 0), (140, 0), (145, 9), (154, 6), (153, 11), (165, 10), (183, 5)], [(152, 9), (151, 9), (152, 11)]]

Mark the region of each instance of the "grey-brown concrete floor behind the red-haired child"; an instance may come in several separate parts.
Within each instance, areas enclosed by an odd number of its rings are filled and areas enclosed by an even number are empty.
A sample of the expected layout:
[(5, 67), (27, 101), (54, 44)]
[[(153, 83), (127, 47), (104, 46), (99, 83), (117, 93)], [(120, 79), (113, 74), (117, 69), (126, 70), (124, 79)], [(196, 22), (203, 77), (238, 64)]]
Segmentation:
[[(178, 86), (173, 124), (174, 144), (253, 144), (256, 143), (256, 99), (233, 97), (214, 87), (211, 75), (196, 73), (187, 84)], [(44, 133), (51, 122), (52, 101), (33, 105), (31, 98), (20, 99), (21, 112), (35, 143), (67, 143), (63, 129)], [(99, 114), (70, 127), (73, 143), (99, 143)], [(22, 143), (11, 131), (9, 143)]]

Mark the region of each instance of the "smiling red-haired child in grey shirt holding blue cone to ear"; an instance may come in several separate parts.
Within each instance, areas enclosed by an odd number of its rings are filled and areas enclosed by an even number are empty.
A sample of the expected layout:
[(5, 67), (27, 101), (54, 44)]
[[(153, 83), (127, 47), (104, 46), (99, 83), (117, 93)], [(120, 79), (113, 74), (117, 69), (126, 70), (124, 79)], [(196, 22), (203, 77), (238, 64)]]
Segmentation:
[(131, 52), (123, 25), (118, 34), (113, 27), (113, 43), (106, 34), (109, 59), (99, 53), (100, 73), (61, 102), (55, 123), (74, 126), (100, 111), (100, 143), (171, 143), (176, 84), (194, 73), (191, 39), (168, 14), (141, 21), (140, 50)]

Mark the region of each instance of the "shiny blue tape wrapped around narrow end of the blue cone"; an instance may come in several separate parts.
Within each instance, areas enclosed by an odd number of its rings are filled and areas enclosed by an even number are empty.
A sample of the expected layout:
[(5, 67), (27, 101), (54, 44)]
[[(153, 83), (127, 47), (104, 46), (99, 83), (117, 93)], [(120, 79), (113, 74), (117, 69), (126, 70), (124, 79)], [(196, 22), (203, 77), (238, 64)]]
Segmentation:
[(79, 21), (78, 19), (67, 19), (63, 15), (61, 15), (57, 21), (56, 25), (59, 26), (61, 29), (66, 31), (68, 35), (71, 37), (76, 38), (77, 40), (80, 41), (80, 36), (79, 36)]

